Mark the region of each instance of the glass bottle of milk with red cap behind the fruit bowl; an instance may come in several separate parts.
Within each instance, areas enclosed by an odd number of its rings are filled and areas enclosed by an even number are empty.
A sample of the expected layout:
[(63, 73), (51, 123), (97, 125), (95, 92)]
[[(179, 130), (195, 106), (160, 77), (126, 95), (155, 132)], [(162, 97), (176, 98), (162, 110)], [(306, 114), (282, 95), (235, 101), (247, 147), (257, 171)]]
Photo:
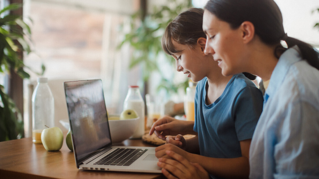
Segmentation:
[(139, 91), (139, 86), (129, 86), (129, 91), (123, 104), (123, 111), (127, 109), (134, 109), (139, 116), (137, 129), (131, 138), (140, 139), (145, 133), (145, 103)]

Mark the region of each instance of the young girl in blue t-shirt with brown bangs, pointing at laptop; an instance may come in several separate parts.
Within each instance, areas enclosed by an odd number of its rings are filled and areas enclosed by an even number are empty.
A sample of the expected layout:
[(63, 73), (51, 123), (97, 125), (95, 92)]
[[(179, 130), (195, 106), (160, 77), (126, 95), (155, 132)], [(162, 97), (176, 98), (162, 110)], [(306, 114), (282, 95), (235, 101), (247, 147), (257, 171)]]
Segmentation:
[(213, 178), (247, 178), (249, 146), (262, 112), (262, 93), (242, 73), (223, 76), (218, 62), (204, 54), (203, 12), (192, 8), (181, 13), (168, 24), (162, 38), (164, 51), (176, 60), (176, 70), (199, 81), (195, 124), (164, 117), (153, 124), (150, 134), (155, 131), (162, 138), (191, 130), (197, 134), (186, 141), (182, 135), (168, 137), (167, 144), (156, 148), (159, 166), (165, 172), (168, 170), (175, 176), (178, 172), (189, 172), (179, 168), (181, 163), (167, 159), (166, 152), (171, 151), (189, 162), (199, 163)]

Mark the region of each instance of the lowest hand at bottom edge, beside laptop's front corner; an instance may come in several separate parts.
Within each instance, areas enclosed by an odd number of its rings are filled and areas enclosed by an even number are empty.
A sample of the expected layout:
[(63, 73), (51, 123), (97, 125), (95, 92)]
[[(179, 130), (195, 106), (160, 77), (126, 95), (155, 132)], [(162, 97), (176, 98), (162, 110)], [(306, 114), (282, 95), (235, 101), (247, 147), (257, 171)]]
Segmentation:
[(157, 165), (168, 179), (209, 178), (208, 172), (198, 163), (189, 162), (182, 155), (170, 150), (167, 150), (166, 154), (172, 159), (159, 158)]

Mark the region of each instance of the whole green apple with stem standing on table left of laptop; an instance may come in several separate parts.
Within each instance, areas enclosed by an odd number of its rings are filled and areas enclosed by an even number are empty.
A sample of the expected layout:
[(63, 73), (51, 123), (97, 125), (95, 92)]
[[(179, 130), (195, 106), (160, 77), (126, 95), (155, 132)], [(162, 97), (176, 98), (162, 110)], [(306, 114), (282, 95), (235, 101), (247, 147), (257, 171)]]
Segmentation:
[(59, 127), (43, 129), (41, 141), (44, 148), (48, 151), (60, 150), (63, 145), (63, 133)]

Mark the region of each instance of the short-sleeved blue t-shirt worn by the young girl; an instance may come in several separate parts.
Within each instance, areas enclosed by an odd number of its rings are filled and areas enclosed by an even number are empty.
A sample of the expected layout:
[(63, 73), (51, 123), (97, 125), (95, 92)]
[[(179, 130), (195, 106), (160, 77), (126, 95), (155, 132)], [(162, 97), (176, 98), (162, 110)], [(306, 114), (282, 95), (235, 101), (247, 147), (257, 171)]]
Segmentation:
[(222, 95), (206, 105), (207, 78), (196, 86), (195, 124), (200, 155), (241, 157), (240, 141), (251, 139), (263, 109), (263, 95), (242, 73), (234, 75)]

